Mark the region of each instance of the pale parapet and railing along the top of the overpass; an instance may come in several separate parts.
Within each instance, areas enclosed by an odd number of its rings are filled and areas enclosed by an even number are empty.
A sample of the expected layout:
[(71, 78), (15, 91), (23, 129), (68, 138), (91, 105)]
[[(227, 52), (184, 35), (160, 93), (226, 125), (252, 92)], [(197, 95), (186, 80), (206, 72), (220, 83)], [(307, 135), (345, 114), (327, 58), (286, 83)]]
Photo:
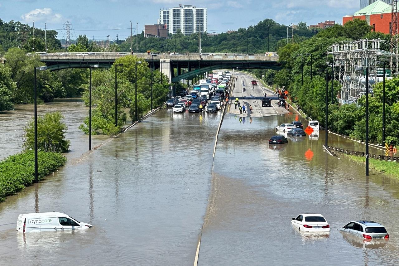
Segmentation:
[[(28, 53), (27, 56), (34, 56), (34, 53)], [(93, 60), (110, 60), (130, 55), (126, 52), (58, 52), (58, 53), (36, 53), (41, 60), (74, 60), (74, 59), (93, 59)], [(170, 60), (257, 60), (257, 61), (274, 61), (279, 60), (277, 53), (265, 54), (213, 54), (213, 53), (133, 53), (132, 55), (145, 60), (150, 60), (151, 55), (154, 60), (170, 59)], [(154, 57), (156, 56), (156, 57)]]

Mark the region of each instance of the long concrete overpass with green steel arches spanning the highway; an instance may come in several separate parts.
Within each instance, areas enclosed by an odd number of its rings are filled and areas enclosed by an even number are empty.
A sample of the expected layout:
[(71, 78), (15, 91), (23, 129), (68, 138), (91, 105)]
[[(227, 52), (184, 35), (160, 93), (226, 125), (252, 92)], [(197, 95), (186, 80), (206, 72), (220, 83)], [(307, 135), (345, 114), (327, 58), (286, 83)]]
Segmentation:
[[(74, 68), (89, 67), (99, 64), (100, 67), (111, 67), (117, 58), (127, 56), (130, 53), (109, 52), (83, 52), (83, 53), (42, 53), (40, 61), (44, 62), (50, 71)], [(28, 54), (32, 55), (32, 54)], [(221, 68), (263, 68), (280, 70), (281, 63), (276, 53), (267, 54), (198, 54), (198, 53), (134, 53), (133, 56), (143, 61), (151, 62), (151, 55), (154, 60), (154, 67), (162, 69), (170, 82), (177, 82), (181, 79), (188, 79), (213, 69)], [(162, 67), (161, 67), (162, 64)]]

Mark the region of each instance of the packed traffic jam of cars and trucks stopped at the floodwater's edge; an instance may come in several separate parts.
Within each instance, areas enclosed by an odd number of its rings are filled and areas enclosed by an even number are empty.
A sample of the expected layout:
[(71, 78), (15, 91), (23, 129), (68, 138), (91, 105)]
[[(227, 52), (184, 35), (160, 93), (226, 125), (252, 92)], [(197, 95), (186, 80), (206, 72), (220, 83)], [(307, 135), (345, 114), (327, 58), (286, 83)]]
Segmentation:
[(211, 73), (193, 85), (190, 93), (184, 90), (166, 101), (166, 107), (172, 108), (173, 113), (217, 113), (225, 105), (230, 79), (229, 71)]

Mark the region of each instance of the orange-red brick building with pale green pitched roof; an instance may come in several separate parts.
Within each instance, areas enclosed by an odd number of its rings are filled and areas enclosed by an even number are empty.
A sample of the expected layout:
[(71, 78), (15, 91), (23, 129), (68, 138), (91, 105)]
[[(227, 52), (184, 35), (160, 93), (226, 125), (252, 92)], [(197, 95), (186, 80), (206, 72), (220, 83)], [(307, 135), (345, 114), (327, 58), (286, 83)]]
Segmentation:
[(392, 6), (381, 0), (373, 2), (353, 15), (344, 16), (342, 25), (357, 18), (367, 21), (367, 24), (372, 27), (371, 30), (375, 32), (391, 34)]

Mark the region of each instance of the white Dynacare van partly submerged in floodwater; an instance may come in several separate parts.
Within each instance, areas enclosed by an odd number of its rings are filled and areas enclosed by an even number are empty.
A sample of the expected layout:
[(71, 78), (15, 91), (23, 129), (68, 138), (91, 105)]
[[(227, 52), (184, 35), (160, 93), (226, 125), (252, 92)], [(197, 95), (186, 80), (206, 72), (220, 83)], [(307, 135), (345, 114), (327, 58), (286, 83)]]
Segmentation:
[(17, 220), (17, 231), (21, 233), (63, 231), (92, 228), (91, 224), (79, 222), (62, 212), (38, 212), (20, 214)]

